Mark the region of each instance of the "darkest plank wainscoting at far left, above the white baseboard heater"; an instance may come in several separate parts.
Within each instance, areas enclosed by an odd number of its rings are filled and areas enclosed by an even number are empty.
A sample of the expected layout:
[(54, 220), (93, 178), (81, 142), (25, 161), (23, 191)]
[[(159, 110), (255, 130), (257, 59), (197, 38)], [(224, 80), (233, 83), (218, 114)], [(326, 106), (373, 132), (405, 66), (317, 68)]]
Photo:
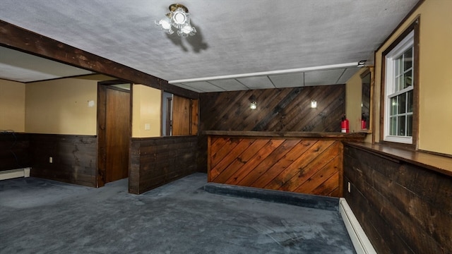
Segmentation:
[(0, 132), (0, 171), (30, 167), (28, 134)]

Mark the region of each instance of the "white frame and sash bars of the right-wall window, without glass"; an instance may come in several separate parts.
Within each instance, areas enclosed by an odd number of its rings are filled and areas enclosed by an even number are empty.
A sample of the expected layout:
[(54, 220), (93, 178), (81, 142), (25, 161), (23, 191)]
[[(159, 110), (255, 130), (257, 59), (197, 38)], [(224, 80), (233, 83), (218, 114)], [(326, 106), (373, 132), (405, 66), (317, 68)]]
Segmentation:
[[(415, 44), (415, 31), (412, 30), (401, 42), (397, 44), (396, 47), (394, 47), (391, 52), (386, 54), (386, 70), (385, 70), (385, 112), (384, 112), (384, 135), (383, 140), (384, 141), (390, 141), (390, 142), (396, 142), (396, 143), (405, 143), (405, 144), (412, 144), (412, 136), (399, 136), (399, 135), (389, 135), (390, 128), (391, 128), (391, 97), (394, 95), (402, 94), (405, 92), (408, 92), (410, 90), (413, 90), (414, 85), (411, 85), (410, 87), (407, 87), (403, 90), (396, 92), (396, 81), (395, 81), (395, 60), (404, 52), (406, 52), (410, 47), (413, 47)], [(415, 54), (414, 48), (413, 48), (413, 55)], [(415, 75), (415, 61), (413, 58), (412, 61), (412, 73), (413, 76)], [(414, 112), (413, 112), (414, 114)], [(413, 115), (414, 117), (414, 115)]]

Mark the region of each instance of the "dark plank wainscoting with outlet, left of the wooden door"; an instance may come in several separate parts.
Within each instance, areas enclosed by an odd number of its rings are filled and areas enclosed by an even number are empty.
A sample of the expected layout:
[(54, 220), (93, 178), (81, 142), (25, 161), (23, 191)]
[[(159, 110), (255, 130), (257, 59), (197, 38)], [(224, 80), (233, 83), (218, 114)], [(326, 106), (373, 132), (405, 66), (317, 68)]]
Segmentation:
[[(30, 135), (30, 176), (96, 186), (97, 138), (88, 135)], [(53, 162), (49, 162), (52, 157)]]

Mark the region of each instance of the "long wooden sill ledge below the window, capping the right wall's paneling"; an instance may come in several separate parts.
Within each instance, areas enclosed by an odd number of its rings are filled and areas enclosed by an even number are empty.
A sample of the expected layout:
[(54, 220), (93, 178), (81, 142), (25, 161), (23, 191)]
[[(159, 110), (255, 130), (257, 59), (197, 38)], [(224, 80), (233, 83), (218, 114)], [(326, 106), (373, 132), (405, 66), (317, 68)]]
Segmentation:
[(383, 144), (371, 143), (351, 143), (347, 145), (357, 147), (358, 149), (373, 152), (374, 154), (389, 157), (397, 161), (408, 162), (419, 167), (431, 169), (433, 171), (452, 176), (452, 157), (434, 155), (428, 152), (405, 150), (398, 147), (392, 147)]

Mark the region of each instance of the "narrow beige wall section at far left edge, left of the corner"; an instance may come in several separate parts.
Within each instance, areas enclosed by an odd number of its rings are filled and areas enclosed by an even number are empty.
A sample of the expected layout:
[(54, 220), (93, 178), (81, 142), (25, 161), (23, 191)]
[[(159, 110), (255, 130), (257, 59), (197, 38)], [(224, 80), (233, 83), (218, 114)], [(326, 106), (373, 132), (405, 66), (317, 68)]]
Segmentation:
[(0, 79), (0, 130), (25, 132), (25, 84)]

